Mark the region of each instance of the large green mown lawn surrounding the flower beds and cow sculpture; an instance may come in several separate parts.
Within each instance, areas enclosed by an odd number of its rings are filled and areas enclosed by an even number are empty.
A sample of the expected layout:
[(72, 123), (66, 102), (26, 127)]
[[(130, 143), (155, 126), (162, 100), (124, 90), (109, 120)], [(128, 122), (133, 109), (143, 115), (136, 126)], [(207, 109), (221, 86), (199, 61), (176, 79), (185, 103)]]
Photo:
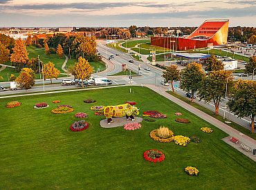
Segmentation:
[[(87, 98), (97, 102), (83, 103)], [(55, 99), (71, 104), (75, 111), (51, 113)], [(6, 108), (10, 100), (19, 100), (21, 106)], [(99, 123), (104, 117), (89, 110), (92, 105), (127, 100), (137, 103), (140, 117), (143, 111), (158, 110), (167, 118), (143, 121), (136, 131), (103, 129)], [(33, 108), (38, 102), (48, 102), (50, 107)], [(255, 162), (223, 142), (225, 133), (145, 87), (1, 99), (0, 108), (0, 189), (256, 189)], [(75, 133), (69, 126), (77, 121), (77, 112), (89, 114), (85, 120), (90, 126)], [(191, 123), (176, 123), (176, 112)], [(161, 125), (175, 135), (197, 135), (201, 142), (185, 147), (155, 142), (149, 132)], [(214, 132), (203, 133), (201, 126), (210, 126)], [(145, 161), (143, 153), (149, 149), (163, 151), (165, 160), (156, 164)], [(199, 176), (187, 175), (183, 171), (187, 166), (198, 168)]]

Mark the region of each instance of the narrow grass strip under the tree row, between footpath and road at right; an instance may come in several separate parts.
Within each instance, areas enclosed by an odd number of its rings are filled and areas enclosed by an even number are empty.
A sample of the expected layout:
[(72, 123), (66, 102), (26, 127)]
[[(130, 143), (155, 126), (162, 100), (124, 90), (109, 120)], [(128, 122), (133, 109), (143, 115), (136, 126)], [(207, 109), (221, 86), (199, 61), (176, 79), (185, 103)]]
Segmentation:
[[(208, 108), (205, 108), (199, 104), (191, 103), (190, 99), (183, 97), (177, 93), (172, 93), (172, 91), (169, 91), (168, 93), (170, 93), (170, 95), (173, 95), (174, 97), (177, 97), (179, 99), (181, 99), (183, 102), (186, 102), (188, 104), (190, 104), (191, 106), (198, 108), (199, 110), (203, 111), (204, 113), (207, 113), (208, 115), (214, 117), (215, 119), (221, 121), (221, 122), (225, 122), (226, 120), (223, 120), (223, 117), (221, 115), (215, 115), (215, 113), (213, 111), (210, 111)], [(248, 135), (249, 137), (252, 137), (254, 140), (256, 140), (256, 134), (255, 133), (250, 133), (250, 130), (246, 129), (244, 126), (241, 126), (239, 124), (236, 124), (235, 122), (231, 122), (231, 124), (227, 124), (229, 126), (231, 126), (234, 129), (237, 129), (237, 131), (240, 131), (241, 133), (244, 133), (246, 135)]]

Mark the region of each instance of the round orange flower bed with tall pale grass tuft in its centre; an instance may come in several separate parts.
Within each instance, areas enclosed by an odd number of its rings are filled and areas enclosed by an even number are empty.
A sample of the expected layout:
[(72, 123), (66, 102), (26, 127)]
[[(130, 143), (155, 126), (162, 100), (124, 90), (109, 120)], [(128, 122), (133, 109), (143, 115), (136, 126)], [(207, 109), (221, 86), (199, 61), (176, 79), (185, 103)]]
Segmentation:
[(149, 136), (158, 142), (172, 142), (174, 133), (167, 127), (160, 127), (159, 129), (151, 131)]

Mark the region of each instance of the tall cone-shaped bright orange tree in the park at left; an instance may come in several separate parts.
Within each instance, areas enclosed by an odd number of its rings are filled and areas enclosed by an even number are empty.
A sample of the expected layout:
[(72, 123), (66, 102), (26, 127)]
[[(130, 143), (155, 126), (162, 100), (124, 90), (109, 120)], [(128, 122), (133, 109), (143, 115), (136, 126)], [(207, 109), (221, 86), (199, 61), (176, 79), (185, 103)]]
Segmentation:
[(28, 61), (28, 52), (24, 42), (19, 38), (15, 41), (15, 47), (12, 48), (13, 53), (10, 56), (10, 61), (15, 65), (17, 71), (24, 68)]

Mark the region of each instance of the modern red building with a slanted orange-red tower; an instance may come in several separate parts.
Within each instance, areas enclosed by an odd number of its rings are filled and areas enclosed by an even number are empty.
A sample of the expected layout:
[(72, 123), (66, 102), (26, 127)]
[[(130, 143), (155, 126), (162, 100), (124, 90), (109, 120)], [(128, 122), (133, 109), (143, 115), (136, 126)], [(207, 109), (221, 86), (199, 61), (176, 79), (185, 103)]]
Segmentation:
[(174, 50), (189, 50), (227, 44), (229, 20), (206, 20), (187, 37), (152, 37), (151, 44)]

